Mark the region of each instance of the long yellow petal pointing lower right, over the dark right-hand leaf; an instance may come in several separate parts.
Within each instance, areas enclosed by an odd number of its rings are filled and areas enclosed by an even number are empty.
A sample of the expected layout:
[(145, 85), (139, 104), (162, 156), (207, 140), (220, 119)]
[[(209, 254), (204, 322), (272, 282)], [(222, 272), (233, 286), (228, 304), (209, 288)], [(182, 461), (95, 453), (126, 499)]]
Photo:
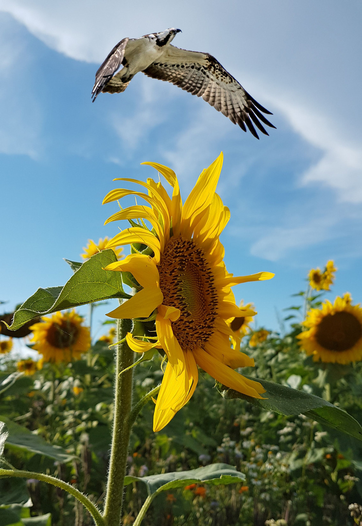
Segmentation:
[(238, 372), (210, 356), (204, 349), (196, 348), (193, 350), (193, 353), (197, 365), (218, 382), (244, 395), (253, 398), (263, 398), (259, 394), (265, 392), (261, 383), (243, 377)]

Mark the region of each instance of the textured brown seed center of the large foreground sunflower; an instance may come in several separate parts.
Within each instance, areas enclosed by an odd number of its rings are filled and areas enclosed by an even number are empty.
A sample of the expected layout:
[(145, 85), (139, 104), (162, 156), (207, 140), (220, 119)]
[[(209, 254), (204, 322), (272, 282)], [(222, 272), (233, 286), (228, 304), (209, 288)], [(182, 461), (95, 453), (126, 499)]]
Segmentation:
[(180, 309), (172, 330), (182, 348), (203, 346), (214, 332), (218, 295), (204, 252), (193, 240), (172, 237), (161, 257), (163, 303)]

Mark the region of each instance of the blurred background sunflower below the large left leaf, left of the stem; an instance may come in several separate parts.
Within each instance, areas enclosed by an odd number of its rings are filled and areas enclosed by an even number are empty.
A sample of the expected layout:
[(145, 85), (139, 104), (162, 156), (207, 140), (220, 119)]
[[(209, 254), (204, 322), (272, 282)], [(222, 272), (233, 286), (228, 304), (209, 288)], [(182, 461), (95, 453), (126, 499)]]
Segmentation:
[(70, 362), (79, 360), (87, 352), (91, 339), (88, 327), (82, 326), (83, 319), (75, 310), (56, 312), (43, 317), (40, 323), (30, 327), (35, 341), (33, 349), (40, 352), (48, 362)]

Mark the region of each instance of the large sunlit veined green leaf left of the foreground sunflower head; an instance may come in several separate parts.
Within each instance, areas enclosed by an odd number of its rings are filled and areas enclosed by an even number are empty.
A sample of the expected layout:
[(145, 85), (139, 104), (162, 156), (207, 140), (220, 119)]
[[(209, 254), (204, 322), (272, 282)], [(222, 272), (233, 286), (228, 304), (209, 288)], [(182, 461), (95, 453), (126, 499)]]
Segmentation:
[(117, 261), (113, 250), (102, 250), (74, 272), (64, 287), (38, 289), (15, 311), (11, 329), (58, 310), (78, 307), (109, 298), (129, 298), (122, 287), (121, 272), (104, 270)]

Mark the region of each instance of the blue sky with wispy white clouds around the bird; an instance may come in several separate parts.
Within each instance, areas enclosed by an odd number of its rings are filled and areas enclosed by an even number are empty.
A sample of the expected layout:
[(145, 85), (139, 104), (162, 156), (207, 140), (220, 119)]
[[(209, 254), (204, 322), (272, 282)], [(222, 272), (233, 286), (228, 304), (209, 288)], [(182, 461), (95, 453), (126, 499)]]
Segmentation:
[[(101, 206), (115, 177), (176, 171), (184, 198), (222, 150), (222, 234), (236, 275), (275, 272), (234, 288), (259, 326), (334, 259), (333, 293), (362, 301), (362, 4), (320, 0), (133, 2), (0, 0), (0, 224), (6, 310), (38, 287), (63, 285), (89, 238), (113, 236)], [(254, 139), (203, 100), (138, 74), (92, 104), (94, 75), (125, 36), (179, 27), (174, 45), (207, 51), (273, 112)], [(124, 206), (126, 206), (126, 201)], [(129, 202), (131, 204), (131, 201)], [(112, 305), (100, 307), (101, 315)]]

